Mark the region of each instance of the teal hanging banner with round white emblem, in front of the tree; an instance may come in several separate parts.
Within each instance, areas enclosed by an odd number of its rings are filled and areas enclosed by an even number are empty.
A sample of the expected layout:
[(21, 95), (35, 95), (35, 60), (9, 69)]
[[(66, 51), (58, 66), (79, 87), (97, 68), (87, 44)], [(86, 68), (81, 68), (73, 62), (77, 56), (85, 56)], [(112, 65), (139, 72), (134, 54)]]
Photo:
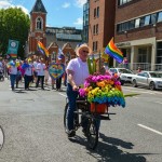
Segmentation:
[(19, 42), (16, 40), (9, 40), (8, 54), (12, 58), (17, 57), (18, 44), (19, 44)]

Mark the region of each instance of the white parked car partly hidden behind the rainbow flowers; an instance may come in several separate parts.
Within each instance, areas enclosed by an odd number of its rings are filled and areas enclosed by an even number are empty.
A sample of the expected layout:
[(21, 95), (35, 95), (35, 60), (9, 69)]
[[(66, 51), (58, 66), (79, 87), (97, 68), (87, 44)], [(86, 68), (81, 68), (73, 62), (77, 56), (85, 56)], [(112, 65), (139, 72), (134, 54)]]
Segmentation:
[(133, 71), (126, 68), (110, 68), (110, 73), (117, 73), (119, 76), (120, 82), (123, 85), (124, 83), (132, 83), (132, 78), (135, 76)]

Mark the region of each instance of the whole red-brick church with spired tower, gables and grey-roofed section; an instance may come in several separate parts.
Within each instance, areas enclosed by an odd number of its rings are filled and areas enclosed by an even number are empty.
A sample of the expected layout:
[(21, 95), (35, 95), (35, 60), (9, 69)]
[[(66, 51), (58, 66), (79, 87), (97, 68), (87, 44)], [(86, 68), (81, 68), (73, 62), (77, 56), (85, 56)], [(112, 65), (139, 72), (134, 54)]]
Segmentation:
[(62, 49), (65, 59), (76, 57), (76, 46), (82, 42), (82, 30), (75, 27), (46, 27), (46, 10), (41, 0), (36, 3), (30, 12), (30, 31), (27, 43), (27, 56), (43, 56), (38, 51), (38, 41), (49, 50), (51, 58), (57, 59), (58, 49)]

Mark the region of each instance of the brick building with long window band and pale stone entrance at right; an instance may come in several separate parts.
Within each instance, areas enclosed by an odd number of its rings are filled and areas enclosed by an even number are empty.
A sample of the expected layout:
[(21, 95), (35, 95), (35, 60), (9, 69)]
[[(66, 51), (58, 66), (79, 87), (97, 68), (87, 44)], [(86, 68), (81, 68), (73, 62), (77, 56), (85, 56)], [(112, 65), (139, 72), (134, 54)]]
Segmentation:
[(162, 70), (162, 1), (116, 2), (114, 42), (129, 58), (130, 68)]

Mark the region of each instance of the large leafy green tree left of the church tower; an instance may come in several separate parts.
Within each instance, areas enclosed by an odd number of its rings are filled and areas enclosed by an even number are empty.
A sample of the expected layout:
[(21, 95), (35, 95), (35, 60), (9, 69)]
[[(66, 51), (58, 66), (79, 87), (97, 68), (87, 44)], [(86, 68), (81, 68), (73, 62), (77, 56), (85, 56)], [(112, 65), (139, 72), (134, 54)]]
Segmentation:
[(17, 56), (24, 57), (24, 46), (28, 39), (30, 21), (21, 8), (0, 10), (0, 53), (8, 51), (9, 39), (19, 41)]

